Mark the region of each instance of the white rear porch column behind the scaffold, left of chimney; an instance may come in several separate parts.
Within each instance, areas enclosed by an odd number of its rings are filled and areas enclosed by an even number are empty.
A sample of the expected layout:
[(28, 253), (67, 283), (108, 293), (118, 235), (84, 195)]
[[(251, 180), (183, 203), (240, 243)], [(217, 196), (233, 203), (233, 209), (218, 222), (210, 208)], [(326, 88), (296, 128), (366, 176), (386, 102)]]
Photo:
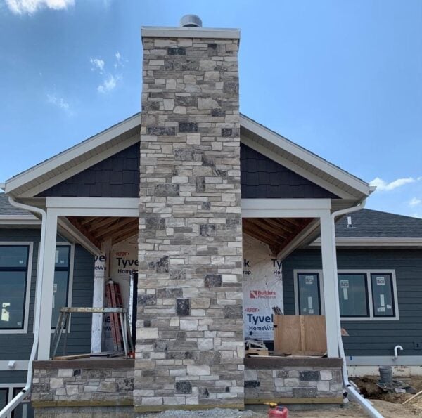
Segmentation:
[[(110, 276), (110, 249), (111, 240), (101, 242), (101, 254), (95, 262), (94, 270), (94, 296), (92, 306), (94, 308), (103, 308), (104, 305), (104, 286)], [(91, 353), (99, 353), (102, 349), (103, 341), (103, 314), (94, 313), (92, 315), (91, 328)]]

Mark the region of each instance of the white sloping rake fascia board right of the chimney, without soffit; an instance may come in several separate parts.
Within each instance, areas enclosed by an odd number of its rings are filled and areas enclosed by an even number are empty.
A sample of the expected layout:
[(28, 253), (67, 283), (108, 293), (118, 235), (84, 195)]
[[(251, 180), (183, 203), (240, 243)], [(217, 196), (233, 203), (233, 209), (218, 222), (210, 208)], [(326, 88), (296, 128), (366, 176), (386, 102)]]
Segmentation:
[(316, 155), (312, 154), (312, 152), (305, 150), (305, 148), (302, 148), (299, 145), (288, 141), (288, 139), (283, 138), (283, 136), (280, 136), (270, 131), (269, 129), (264, 128), (264, 126), (257, 124), (257, 122), (254, 122), (248, 117), (245, 117), (245, 115), (241, 115), (241, 126), (245, 127), (245, 129), (248, 129), (256, 135), (261, 136), (277, 147), (285, 150), (286, 152), (290, 152), (290, 154), (295, 155), (295, 157), (302, 159), (317, 169), (324, 171), (324, 173), (328, 174), (329, 176), (337, 178), (338, 181), (350, 185), (351, 188), (354, 188), (363, 195), (370, 195), (371, 191), (368, 183), (365, 183), (364, 181), (359, 180), (359, 178), (346, 173), (342, 169), (339, 169), (326, 160), (317, 157)]

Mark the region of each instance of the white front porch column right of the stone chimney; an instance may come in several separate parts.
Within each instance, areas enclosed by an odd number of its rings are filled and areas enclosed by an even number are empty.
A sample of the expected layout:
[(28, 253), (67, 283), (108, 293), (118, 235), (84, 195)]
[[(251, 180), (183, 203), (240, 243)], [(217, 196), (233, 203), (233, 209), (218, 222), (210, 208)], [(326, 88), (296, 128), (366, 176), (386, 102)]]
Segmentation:
[(324, 211), (321, 215), (321, 256), (324, 280), (324, 308), (326, 317), (327, 332), (327, 354), (328, 357), (338, 357), (338, 322), (335, 308), (337, 292), (335, 281), (335, 252), (333, 252), (333, 225), (331, 223), (330, 211)]

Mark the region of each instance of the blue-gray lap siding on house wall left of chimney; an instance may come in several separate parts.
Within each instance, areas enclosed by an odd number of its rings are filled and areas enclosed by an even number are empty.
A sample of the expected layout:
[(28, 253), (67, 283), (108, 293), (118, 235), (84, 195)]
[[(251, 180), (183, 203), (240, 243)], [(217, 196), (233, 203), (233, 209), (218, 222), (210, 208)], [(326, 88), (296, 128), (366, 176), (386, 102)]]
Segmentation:
[[(34, 243), (28, 332), (27, 334), (0, 334), (0, 360), (27, 360), (30, 357), (34, 339), (34, 301), (39, 236), (40, 231), (37, 229), (0, 229), (0, 241)], [(75, 245), (72, 306), (92, 306), (93, 289), (94, 256), (80, 245)], [(89, 353), (91, 350), (91, 315), (74, 314), (71, 325), (71, 332), (68, 335), (68, 354)], [(4, 373), (0, 374), (0, 383)], [(11, 372), (6, 372), (6, 374), (10, 375)]]

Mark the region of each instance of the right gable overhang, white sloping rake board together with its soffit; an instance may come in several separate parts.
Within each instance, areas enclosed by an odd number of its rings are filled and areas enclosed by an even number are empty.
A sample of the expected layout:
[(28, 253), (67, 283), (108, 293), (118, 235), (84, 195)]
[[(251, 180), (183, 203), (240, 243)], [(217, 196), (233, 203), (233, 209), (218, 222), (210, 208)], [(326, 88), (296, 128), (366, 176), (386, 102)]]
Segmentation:
[(368, 183), (245, 115), (241, 115), (241, 128), (246, 131), (245, 135), (241, 135), (242, 143), (335, 195), (343, 199), (362, 200), (371, 193)]

